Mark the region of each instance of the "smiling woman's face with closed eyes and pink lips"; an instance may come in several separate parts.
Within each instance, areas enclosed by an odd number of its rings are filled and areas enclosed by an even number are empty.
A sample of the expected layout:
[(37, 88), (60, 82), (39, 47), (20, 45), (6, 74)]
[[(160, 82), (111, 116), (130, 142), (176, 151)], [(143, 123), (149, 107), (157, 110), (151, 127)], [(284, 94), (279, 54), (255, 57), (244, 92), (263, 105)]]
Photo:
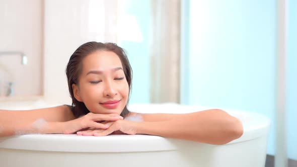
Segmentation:
[(96, 51), (83, 59), (79, 84), (73, 94), (92, 113), (121, 114), (127, 104), (129, 86), (117, 54)]

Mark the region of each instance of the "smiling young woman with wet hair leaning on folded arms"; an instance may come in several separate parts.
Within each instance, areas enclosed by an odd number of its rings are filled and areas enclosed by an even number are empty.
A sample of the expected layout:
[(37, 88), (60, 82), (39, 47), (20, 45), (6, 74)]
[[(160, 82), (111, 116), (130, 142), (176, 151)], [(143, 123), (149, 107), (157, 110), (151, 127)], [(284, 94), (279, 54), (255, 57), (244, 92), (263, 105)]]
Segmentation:
[[(226, 144), (243, 134), (242, 123), (219, 109), (187, 114), (140, 114), (126, 108), (132, 70), (113, 43), (88, 42), (66, 67), (71, 106), (30, 111), (0, 110), (0, 137), (27, 133), (105, 136), (148, 134)], [(141, 121), (132, 121), (137, 116)]]

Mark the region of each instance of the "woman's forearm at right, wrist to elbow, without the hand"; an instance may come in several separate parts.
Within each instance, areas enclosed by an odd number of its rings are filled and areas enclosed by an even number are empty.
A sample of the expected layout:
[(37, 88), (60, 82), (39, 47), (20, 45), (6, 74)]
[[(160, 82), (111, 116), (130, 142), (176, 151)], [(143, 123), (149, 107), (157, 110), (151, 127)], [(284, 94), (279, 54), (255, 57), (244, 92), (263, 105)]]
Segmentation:
[(158, 135), (209, 144), (225, 144), (243, 133), (241, 122), (221, 110), (183, 114), (160, 122), (138, 122), (138, 134)]

